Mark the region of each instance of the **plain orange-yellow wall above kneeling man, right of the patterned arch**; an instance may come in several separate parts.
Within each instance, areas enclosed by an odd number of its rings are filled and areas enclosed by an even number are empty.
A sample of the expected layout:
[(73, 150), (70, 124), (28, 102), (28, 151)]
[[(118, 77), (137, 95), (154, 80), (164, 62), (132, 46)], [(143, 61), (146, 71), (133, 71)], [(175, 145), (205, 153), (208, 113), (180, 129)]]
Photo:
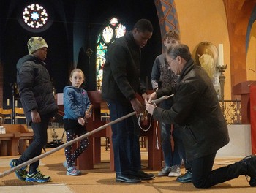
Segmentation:
[(222, 0), (176, 0), (181, 42), (187, 44), (191, 53), (200, 42), (211, 42), (218, 48), (223, 44), (225, 71), (225, 99), (231, 97), (230, 86), (230, 42), (227, 19)]

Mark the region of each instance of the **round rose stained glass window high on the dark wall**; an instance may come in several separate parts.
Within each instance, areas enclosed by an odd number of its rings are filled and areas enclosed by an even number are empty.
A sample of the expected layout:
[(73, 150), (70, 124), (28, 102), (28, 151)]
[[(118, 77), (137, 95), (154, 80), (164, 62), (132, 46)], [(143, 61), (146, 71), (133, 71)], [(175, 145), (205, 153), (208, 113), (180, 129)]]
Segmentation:
[(39, 29), (48, 22), (48, 12), (39, 4), (29, 4), (23, 10), (23, 21), (32, 29)]

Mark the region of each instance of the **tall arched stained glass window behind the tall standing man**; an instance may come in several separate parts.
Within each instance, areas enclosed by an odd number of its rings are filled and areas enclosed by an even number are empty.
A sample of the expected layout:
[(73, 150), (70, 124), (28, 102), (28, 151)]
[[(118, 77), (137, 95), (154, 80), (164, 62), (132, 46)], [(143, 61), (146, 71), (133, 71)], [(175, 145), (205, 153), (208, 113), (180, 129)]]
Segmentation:
[(108, 46), (115, 41), (116, 38), (124, 36), (126, 27), (118, 18), (111, 18), (108, 23), (102, 28), (97, 38), (97, 90), (102, 88), (102, 74), (105, 64), (105, 54)]

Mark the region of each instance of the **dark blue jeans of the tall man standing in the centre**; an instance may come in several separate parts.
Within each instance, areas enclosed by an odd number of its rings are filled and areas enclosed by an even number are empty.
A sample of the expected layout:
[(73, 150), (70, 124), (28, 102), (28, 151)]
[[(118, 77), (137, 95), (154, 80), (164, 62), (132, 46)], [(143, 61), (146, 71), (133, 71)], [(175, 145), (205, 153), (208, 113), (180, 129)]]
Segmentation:
[[(108, 102), (111, 121), (134, 112), (132, 105)], [(111, 126), (116, 175), (127, 175), (141, 169), (140, 128), (138, 118), (131, 116)]]

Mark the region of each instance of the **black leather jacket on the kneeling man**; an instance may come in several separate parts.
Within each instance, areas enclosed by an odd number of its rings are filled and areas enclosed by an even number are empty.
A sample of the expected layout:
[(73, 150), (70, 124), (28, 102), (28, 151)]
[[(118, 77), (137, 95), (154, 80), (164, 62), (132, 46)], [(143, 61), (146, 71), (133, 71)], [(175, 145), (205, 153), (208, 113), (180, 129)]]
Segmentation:
[(185, 64), (176, 89), (163, 88), (157, 91), (157, 97), (173, 92), (173, 107), (155, 108), (153, 115), (159, 121), (182, 125), (188, 160), (214, 154), (229, 142), (227, 124), (211, 79), (192, 59)]

